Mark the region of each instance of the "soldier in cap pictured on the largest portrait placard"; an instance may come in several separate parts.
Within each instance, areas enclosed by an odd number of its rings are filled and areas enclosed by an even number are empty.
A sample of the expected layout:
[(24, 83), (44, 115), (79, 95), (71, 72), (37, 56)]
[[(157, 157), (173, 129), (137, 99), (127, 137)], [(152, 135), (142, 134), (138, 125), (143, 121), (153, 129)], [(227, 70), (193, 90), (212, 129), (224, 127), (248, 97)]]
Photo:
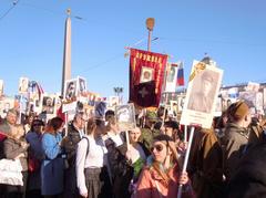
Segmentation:
[(211, 113), (213, 98), (211, 93), (214, 92), (214, 79), (211, 71), (204, 71), (201, 79), (201, 87), (196, 92), (192, 92), (187, 108), (197, 112)]

